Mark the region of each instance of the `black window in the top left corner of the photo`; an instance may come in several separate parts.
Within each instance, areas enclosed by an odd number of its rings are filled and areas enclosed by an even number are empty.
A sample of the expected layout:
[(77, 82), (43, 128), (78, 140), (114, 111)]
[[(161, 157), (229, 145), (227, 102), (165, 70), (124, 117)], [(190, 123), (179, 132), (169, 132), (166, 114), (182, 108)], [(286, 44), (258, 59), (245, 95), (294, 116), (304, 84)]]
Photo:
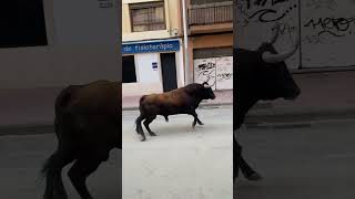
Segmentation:
[(0, 48), (47, 45), (42, 0), (0, 3)]

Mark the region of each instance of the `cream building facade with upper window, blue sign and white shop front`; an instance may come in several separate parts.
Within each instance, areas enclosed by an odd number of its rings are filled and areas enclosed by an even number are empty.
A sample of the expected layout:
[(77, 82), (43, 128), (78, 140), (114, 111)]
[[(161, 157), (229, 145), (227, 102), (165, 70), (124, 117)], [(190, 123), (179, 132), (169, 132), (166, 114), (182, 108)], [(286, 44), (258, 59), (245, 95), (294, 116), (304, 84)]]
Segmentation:
[(184, 85), (180, 1), (122, 1), (123, 95)]

